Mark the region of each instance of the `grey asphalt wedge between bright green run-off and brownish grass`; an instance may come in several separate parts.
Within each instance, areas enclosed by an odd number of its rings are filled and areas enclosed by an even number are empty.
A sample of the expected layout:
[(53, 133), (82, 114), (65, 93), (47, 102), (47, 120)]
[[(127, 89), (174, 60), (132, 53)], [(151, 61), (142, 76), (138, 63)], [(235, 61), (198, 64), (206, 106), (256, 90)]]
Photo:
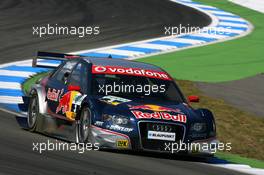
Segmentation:
[(197, 83), (197, 86), (209, 96), (221, 98), (241, 110), (264, 117), (263, 74), (223, 83)]

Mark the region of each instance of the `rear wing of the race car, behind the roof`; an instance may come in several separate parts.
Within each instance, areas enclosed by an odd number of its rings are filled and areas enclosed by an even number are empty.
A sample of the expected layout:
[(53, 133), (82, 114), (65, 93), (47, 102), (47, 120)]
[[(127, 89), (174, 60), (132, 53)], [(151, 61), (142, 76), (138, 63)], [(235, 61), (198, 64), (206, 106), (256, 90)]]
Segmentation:
[(63, 61), (80, 57), (80, 55), (64, 53), (38, 52), (37, 57), (32, 60), (32, 67), (56, 68)]

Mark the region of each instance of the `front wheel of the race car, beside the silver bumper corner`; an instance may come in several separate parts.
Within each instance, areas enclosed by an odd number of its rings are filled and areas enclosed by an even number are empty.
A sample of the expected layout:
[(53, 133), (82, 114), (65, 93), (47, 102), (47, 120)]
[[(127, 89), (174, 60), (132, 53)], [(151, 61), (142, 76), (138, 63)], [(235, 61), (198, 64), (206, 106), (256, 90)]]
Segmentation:
[(83, 107), (77, 121), (77, 143), (87, 143), (90, 135), (91, 111)]

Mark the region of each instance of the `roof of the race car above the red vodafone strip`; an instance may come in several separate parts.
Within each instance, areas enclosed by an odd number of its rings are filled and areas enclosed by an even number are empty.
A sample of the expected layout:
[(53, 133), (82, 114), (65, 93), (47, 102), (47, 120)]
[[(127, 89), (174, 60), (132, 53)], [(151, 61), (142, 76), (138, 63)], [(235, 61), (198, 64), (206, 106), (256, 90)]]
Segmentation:
[(160, 67), (138, 62), (138, 61), (131, 61), (125, 59), (114, 59), (114, 58), (93, 58), (93, 57), (85, 57), (85, 61), (92, 63), (94, 65), (100, 66), (120, 66), (120, 67), (127, 67), (127, 68), (139, 68), (139, 69), (146, 69), (146, 70), (155, 70), (164, 72)]

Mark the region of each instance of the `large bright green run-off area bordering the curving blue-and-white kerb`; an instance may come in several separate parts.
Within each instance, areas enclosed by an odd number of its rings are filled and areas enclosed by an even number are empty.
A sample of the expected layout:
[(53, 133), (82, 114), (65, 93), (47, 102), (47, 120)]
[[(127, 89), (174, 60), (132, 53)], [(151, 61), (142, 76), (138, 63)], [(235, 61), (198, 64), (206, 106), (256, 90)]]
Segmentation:
[(242, 38), (138, 59), (156, 64), (181, 80), (222, 82), (264, 72), (264, 14), (227, 0), (197, 0), (233, 12), (250, 21), (254, 31)]

